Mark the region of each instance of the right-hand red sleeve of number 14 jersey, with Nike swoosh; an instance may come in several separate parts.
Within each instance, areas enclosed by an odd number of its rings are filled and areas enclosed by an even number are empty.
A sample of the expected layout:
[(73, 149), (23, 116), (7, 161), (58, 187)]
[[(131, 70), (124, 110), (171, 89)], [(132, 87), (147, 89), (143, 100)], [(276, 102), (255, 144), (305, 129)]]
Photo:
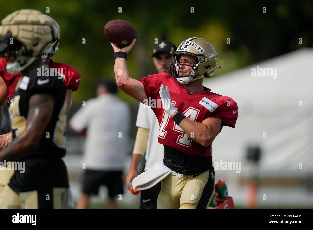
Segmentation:
[(216, 100), (220, 104), (210, 117), (215, 117), (222, 120), (221, 130), (223, 126), (235, 127), (238, 118), (238, 105), (237, 103), (229, 98), (218, 98)]

